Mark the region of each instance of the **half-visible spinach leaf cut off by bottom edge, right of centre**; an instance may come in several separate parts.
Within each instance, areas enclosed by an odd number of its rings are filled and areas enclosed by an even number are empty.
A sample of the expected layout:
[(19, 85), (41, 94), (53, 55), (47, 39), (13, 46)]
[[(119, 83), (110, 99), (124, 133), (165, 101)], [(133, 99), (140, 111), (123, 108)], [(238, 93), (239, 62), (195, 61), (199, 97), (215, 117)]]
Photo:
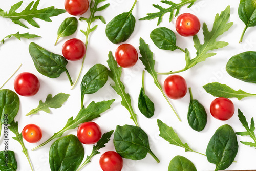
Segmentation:
[(183, 156), (175, 156), (169, 164), (168, 171), (197, 171), (195, 165)]

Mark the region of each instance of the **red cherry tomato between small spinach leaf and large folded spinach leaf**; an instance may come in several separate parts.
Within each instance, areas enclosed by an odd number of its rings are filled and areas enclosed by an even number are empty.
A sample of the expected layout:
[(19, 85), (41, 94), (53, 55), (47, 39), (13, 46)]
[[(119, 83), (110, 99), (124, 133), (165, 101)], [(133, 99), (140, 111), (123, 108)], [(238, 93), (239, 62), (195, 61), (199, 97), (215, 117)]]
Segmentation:
[(86, 54), (86, 45), (81, 40), (72, 38), (63, 44), (62, 54), (68, 60), (80, 60)]

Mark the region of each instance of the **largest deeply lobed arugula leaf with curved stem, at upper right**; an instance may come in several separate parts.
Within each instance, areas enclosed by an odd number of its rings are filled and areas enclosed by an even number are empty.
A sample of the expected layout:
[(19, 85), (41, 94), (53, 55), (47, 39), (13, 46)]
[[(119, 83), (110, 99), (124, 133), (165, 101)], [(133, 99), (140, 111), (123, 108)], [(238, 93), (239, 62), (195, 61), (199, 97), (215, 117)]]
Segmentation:
[(185, 53), (186, 66), (184, 69), (179, 71), (170, 71), (166, 73), (158, 73), (158, 74), (174, 74), (182, 71), (186, 71), (189, 68), (195, 66), (197, 63), (206, 60), (206, 58), (216, 55), (214, 52), (208, 53), (208, 51), (223, 48), (228, 45), (227, 42), (224, 41), (216, 41), (216, 39), (222, 35), (224, 32), (228, 31), (228, 29), (233, 25), (233, 22), (227, 23), (230, 16), (230, 6), (228, 6), (221, 14), (217, 14), (215, 16), (214, 25), (212, 30), (209, 31), (207, 25), (203, 24), (203, 34), (204, 34), (204, 44), (201, 44), (198, 36), (195, 35), (193, 37), (194, 47), (197, 50), (197, 56), (194, 59), (190, 59), (189, 52)]

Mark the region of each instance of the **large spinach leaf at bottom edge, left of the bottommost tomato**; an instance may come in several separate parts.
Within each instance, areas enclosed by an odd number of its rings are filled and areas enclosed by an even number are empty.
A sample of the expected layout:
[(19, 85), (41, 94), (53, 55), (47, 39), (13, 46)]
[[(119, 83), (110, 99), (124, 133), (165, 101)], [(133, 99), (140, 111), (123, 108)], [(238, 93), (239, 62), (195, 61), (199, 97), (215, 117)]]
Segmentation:
[(84, 157), (82, 143), (75, 135), (57, 139), (50, 148), (49, 162), (52, 171), (73, 171), (81, 164)]

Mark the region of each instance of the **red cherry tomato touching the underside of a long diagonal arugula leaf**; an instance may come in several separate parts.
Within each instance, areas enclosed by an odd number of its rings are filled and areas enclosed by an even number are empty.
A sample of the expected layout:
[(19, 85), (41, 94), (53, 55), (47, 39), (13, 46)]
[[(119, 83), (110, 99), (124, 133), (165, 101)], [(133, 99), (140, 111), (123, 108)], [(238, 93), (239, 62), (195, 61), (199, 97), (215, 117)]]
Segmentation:
[(83, 144), (95, 144), (101, 138), (101, 129), (95, 122), (84, 122), (78, 127), (77, 137)]

